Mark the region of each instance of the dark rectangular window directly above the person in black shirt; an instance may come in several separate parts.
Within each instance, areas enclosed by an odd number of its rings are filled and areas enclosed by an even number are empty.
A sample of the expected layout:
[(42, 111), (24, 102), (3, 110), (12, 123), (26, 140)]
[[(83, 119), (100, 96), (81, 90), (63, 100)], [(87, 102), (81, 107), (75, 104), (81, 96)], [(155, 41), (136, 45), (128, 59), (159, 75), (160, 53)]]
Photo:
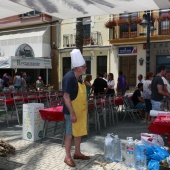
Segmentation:
[(98, 56), (97, 57), (97, 73), (107, 72), (107, 56)]

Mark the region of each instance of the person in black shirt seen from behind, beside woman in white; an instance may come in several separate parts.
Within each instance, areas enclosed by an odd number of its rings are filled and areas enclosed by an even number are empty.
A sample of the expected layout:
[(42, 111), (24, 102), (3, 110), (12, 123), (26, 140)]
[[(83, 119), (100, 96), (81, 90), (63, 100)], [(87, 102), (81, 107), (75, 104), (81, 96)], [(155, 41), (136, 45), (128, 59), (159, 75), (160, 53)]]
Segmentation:
[(107, 82), (102, 78), (102, 74), (98, 73), (97, 78), (94, 80), (94, 83), (92, 85), (94, 95), (98, 95), (99, 93), (106, 93), (107, 88)]

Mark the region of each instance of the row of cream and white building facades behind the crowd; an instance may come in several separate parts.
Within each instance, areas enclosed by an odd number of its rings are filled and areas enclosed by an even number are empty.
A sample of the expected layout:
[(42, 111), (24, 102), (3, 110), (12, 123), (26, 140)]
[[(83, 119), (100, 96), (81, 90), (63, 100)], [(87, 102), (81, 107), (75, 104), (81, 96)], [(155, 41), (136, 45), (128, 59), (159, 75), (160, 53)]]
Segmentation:
[[(146, 75), (146, 28), (140, 26), (145, 12), (83, 18), (83, 56), (86, 74), (113, 73), (117, 82), (123, 71), (130, 86), (138, 74)], [(150, 11), (150, 71), (169, 66), (169, 10)], [(26, 71), (36, 79), (61, 89), (64, 74), (71, 69), (70, 52), (76, 48), (77, 19), (58, 20), (32, 11), (0, 20), (0, 68), (3, 72)], [(1, 74), (2, 74), (1, 73)], [(85, 75), (83, 75), (84, 77)], [(34, 80), (35, 81), (35, 80)], [(116, 86), (115, 86), (116, 88)]]

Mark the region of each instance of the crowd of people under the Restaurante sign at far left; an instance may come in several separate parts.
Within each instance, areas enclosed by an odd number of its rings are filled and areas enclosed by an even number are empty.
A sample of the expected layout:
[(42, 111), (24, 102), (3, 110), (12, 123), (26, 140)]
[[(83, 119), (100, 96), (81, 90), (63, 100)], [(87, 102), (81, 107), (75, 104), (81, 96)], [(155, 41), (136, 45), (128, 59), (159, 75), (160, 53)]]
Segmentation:
[[(44, 89), (44, 83), (41, 76), (38, 76), (35, 82), (35, 89), (36, 90)], [(29, 82), (27, 79), (26, 72), (23, 72), (21, 74), (15, 72), (14, 77), (10, 76), (7, 73), (4, 73), (3, 76), (0, 76), (0, 92), (2, 91), (24, 92), (28, 90), (29, 90)]]

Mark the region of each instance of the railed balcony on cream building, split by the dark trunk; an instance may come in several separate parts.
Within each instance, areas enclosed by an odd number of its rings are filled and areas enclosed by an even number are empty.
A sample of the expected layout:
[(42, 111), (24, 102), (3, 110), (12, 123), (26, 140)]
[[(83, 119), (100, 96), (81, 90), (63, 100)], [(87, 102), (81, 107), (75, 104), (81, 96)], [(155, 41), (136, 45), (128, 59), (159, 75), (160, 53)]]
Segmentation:
[[(102, 37), (101, 33), (91, 32), (90, 34), (85, 34), (83, 36), (83, 46), (101, 46), (102, 45)], [(64, 34), (63, 35), (63, 47), (75, 47), (76, 46), (76, 34)]]

